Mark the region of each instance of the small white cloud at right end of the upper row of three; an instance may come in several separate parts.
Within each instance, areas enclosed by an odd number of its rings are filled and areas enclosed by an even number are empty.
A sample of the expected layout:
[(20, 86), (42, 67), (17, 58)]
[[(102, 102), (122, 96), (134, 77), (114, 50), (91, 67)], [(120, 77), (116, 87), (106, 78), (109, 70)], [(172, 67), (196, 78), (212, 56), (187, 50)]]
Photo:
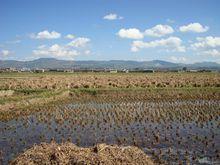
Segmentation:
[(181, 32), (203, 33), (209, 30), (208, 26), (202, 26), (200, 23), (190, 23), (179, 28)]

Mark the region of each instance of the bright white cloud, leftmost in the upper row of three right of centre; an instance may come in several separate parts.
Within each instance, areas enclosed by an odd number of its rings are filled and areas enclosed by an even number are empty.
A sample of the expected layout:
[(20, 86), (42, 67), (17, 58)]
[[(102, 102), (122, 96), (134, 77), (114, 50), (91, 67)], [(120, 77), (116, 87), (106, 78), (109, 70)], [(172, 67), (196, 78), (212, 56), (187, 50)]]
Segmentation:
[(118, 36), (121, 38), (130, 38), (130, 39), (142, 39), (144, 35), (140, 32), (139, 29), (131, 28), (131, 29), (120, 29), (118, 32)]

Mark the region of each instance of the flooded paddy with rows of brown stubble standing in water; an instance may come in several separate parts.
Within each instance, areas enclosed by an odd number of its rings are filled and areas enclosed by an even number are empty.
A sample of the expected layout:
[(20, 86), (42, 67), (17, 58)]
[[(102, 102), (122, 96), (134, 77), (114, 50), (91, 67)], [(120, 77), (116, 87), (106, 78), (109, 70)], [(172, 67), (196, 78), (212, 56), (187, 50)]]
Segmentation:
[[(132, 93), (132, 94), (131, 94)], [(172, 92), (167, 92), (171, 93)], [(0, 121), (3, 163), (40, 142), (138, 146), (158, 163), (219, 164), (220, 95), (92, 93)]]

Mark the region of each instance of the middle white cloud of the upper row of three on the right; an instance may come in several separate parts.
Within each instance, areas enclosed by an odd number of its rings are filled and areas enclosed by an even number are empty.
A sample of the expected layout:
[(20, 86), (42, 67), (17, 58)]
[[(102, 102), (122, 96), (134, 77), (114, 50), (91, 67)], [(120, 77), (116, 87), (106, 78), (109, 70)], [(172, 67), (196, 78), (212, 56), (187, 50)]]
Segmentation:
[(174, 32), (173, 28), (169, 25), (156, 25), (151, 29), (145, 30), (144, 34), (152, 37), (162, 37), (167, 34), (172, 34)]

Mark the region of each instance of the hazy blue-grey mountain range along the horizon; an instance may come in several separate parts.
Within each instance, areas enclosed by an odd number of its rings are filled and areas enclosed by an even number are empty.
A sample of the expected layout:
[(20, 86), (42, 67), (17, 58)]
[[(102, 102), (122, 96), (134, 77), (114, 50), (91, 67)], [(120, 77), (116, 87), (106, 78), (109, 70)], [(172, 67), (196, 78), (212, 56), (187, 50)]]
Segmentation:
[(68, 61), (55, 58), (40, 58), (33, 61), (0, 60), (0, 68), (44, 68), (44, 69), (209, 69), (220, 70), (220, 64), (215, 62), (200, 62), (194, 64), (173, 63), (162, 60), (153, 61)]

